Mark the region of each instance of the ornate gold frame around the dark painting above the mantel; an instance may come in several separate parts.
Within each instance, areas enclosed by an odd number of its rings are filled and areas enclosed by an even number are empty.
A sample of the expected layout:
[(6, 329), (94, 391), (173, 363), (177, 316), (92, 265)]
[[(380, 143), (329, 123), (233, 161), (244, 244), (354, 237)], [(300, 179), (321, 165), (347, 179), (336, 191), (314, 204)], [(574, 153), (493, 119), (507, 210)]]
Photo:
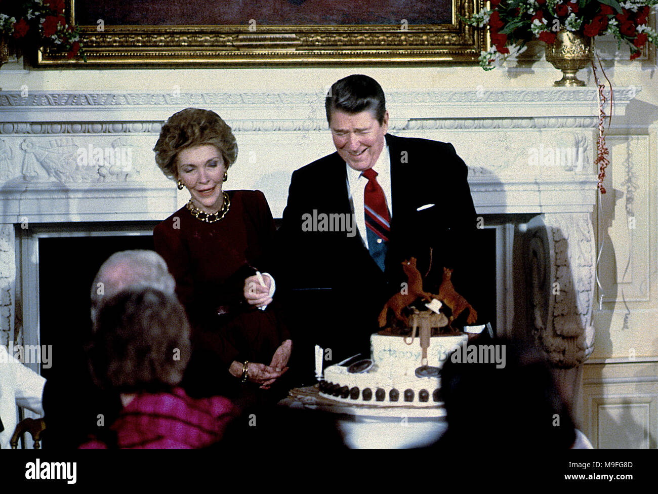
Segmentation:
[[(39, 49), (39, 66), (276, 66), (352, 64), (450, 64), (474, 62), (486, 49), (485, 34), (459, 19), (483, 0), (451, 2), (451, 24), (103, 26), (81, 25), (87, 62)], [(66, 0), (76, 21), (76, 0)]]

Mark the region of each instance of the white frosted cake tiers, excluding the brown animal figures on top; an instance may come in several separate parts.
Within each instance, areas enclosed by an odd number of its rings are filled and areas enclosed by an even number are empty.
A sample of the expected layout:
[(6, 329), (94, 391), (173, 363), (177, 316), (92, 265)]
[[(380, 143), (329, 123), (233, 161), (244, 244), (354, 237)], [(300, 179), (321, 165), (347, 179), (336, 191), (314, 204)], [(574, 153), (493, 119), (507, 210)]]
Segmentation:
[[(382, 407), (434, 407), (441, 398), (441, 379), (418, 377), (422, 368), (420, 338), (403, 337), (382, 331), (370, 336), (372, 367), (367, 372), (349, 372), (336, 364), (324, 369), (320, 395), (344, 403)], [(465, 343), (468, 335), (430, 337), (426, 366), (441, 368), (449, 353)], [(409, 343), (409, 344), (408, 344)]]

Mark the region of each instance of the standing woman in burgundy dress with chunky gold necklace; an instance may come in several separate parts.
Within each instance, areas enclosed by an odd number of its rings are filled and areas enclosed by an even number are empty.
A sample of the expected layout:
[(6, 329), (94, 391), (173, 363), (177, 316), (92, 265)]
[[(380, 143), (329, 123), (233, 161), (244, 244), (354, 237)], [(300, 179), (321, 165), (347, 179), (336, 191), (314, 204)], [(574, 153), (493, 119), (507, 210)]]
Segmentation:
[(288, 370), (292, 343), (266, 273), (274, 220), (261, 191), (222, 190), (238, 145), (212, 111), (188, 108), (164, 124), (155, 161), (191, 198), (153, 230), (193, 328), (184, 386), (196, 394), (263, 389)]

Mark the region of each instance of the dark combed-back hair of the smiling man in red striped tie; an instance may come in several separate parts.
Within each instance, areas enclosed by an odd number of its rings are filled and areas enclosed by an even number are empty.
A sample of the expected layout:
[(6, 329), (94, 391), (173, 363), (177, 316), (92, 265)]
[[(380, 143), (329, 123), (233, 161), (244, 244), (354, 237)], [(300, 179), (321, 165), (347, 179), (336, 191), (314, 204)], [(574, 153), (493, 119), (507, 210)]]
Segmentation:
[(324, 100), (327, 122), (335, 110), (345, 113), (371, 111), (380, 125), (384, 123), (386, 98), (384, 90), (372, 77), (354, 74), (332, 84)]

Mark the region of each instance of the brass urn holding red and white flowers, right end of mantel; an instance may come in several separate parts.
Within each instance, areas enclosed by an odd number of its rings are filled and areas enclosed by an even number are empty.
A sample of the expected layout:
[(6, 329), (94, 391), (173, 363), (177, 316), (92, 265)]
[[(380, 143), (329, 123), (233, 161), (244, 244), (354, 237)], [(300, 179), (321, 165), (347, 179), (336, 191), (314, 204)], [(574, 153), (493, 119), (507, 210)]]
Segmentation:
[(555, 81), (553, 86), (585, 86), (585, 82), (576, 77), (576, 72), (592, 61), (592, 37), (565, 28), (556, 35), (553, 44), (546, 45), (546, 60), (563, 73), (561, 80)]

